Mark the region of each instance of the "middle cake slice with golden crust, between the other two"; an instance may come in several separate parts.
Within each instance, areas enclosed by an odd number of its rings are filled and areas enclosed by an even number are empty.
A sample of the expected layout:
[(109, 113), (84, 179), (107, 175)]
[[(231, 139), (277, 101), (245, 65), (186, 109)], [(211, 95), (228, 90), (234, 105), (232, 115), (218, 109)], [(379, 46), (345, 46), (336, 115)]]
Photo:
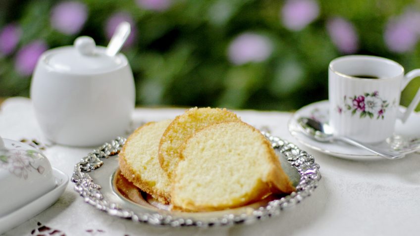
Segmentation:
[(213, 123), (240, 121), (235, 113), (219, 108), (191, 108), (177, 116), (163, 133), (159, 144), (159, 163), (171, 179), (179, 159), (179, 148), (196, 131)]

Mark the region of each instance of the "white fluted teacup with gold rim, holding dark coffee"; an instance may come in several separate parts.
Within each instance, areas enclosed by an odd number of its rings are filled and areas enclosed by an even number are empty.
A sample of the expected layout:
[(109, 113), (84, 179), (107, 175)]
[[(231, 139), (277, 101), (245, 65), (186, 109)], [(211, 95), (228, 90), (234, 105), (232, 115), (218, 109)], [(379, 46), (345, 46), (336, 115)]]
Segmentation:
[(390, 59), (348, 55), (332, 60), (328, 70), (330, 125), (335, 134), (360, 142), (381, 142), (394, 132), (396, 119), (405, 122), (420, 100), (420, 90), (405, 112), (399, 110), (401, 91), (420, 76), (404, 75)]

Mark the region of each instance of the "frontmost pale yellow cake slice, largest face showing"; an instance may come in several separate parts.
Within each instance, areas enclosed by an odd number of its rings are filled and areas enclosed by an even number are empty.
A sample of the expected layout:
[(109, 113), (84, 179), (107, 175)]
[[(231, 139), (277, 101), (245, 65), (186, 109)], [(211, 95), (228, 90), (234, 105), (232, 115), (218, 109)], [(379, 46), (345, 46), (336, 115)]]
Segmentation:
[(244, 122), (210, 125), (181, 147), (171, 203), (187, 211), (243, 206), (295, 190), (270, 142)]

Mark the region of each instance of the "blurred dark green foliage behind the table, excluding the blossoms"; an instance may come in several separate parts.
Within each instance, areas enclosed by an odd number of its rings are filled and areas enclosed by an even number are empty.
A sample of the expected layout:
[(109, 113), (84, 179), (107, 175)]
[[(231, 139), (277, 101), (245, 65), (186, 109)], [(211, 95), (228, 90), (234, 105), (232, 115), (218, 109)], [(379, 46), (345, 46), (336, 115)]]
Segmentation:
[[(107, 45), (105, 22), (115, 12), (132, 15), (138, 35), (123, 53), (130, 61), (136, 102), (142, 106), (219, 106), (263, 110), (295, 110), (327, 99), (327, 67), (342, 55), (326, 31), (330, 17), (351, 21), (359, 35), (358, 54), (379, 55), (400, 62), (407, 71), (420, 68), (420, 44), (406, 53), (392, 53), (384, 44), (385, 24), (412, 0), (319, 0), (319, 17), (298, 32), (279, 18), (281, 0), (177, 0), (163, 12), (139, 8), (134, 0), (83, 0), (88, 19), (77, 35), (64, 35), (50, 25), (54, 0), (2, 0), (0, 29), (18, 22), (18, 47), (43, 39), (50, 48), (71, 45), (87, 35)], [(214, 14), (223, 9), (224, 14)], [(240, 33), (256, 32), (274, 42), (271, 56), (259, 63), (234, 65), (229, 43)], [(14, 55), (0, 56), (0, 96), (29, 96), (30, 77), (14, 70)], [(404, 91), (402, 104), (417, 92), (417, 78)], [(419, 108), (419, 107), (418, 107)]]

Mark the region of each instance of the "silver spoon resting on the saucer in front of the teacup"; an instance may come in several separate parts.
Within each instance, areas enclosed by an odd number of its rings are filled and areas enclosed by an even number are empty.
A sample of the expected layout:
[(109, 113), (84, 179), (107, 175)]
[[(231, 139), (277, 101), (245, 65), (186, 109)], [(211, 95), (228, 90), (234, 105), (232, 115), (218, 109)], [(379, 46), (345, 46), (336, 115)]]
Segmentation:
[(352, 140), (344, 136), (336, 136), (333, 134), (332, 128), (328, 124), (321, 123), (309, 117), (300, 117), (297, 120), (297, 122), (299, 124), (299, 127), (301, 128), (301, 131), (305, 135), (319, 142), (333, 142), (336, 140), (347, 142), (349, 144), (364, 148), (370, 152), (373, 152), (387, 159), (399, 159), (405, 156), (404, 154), (401, 154), (401, 153), (386, 151), (386, 150), (379, 149), (375, 146), (372, 146), (370, 144), (357, 142), (355, 140)]

